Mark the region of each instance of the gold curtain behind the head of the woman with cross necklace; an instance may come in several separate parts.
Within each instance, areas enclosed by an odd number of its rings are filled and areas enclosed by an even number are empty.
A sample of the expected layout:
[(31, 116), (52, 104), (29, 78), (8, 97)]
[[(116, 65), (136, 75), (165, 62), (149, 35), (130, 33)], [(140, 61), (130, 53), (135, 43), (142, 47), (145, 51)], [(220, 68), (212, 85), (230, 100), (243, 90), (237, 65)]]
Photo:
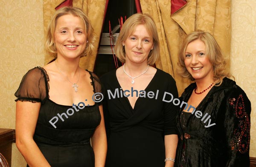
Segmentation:
[[(44, 34), (52, 14), (55, 12), (55, 7), (61, 4), (64, 0), (44, 0)], [(96, 50), (92, 55), (87, 55), (81, 58), (80, 66), (83, 69), (93, 71), (96, 59), (97, 49), (99, 46), (100, 35), (102, 32), (102, 24), (104, 19), (106, 0), (73, 0), (73, 6), (81, 8), (90, 18), (94, 32), (96, 33), (97, 41), (95, 43)], [(49, 63), (53, 57), (45, 55), (45, 64)]]

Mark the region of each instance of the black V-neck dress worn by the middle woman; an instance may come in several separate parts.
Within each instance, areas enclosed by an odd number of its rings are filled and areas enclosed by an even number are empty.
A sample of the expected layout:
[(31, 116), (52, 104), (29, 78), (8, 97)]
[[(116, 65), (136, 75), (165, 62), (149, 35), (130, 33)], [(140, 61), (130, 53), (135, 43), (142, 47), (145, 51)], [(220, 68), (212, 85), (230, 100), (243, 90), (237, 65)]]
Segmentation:
[[(164, 167), (164, 135), (176, 134), (177, 106), (163, 102), (163, 94), (169, 92), (178, 97), (175, 80), (157, 69), (145, 89), (146, 93), (154, 92), (154, 97), (139, 97), (134, 109), (120, 93), (116, 70), (103, 75), (101, 81), (105, 88), (103, 110), (108, 136), (106, 167)], [(113, 98), (116, 90), (119, 95), (116, 92)], [(170, 98), (166, 95), (165, 100)]]

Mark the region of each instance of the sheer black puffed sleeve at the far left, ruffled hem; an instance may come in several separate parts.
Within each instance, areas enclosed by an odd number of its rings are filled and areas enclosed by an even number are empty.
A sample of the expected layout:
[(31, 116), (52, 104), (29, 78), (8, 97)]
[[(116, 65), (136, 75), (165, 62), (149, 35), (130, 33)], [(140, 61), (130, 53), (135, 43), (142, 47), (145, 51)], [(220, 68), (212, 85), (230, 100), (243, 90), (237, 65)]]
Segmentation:
[(30, 101), (32, 103), (44, 101), (48, 97), (49, 78), (41, 67), (30, 69), (22, 78), (20, 86), (15, 92), (15, 101)]

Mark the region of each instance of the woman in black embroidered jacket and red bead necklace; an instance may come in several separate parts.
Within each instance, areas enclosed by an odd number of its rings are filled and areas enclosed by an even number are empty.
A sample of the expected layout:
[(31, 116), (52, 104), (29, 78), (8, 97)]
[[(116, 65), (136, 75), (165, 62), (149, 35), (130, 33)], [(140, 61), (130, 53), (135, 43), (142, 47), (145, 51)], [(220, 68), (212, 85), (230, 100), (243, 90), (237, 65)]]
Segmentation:
[(195, 83), (180, 97), (176, 167), (249, 167), (251, 104), (229, 79), (224, 56), (207, 32), (189, 34), (179, 53), (180, 74)]

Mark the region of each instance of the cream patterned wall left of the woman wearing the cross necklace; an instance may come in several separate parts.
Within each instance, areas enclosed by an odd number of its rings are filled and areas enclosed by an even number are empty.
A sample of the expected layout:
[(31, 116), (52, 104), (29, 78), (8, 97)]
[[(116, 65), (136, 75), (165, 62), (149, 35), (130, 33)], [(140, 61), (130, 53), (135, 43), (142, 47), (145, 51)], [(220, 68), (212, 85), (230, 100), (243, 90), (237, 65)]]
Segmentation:
[[(15, 96), (22, 76), (44, 65), (43, 0), (0, 0), (0, 128), (15, 129)], [(12, 144), (12, 167), (25, 167)]]

